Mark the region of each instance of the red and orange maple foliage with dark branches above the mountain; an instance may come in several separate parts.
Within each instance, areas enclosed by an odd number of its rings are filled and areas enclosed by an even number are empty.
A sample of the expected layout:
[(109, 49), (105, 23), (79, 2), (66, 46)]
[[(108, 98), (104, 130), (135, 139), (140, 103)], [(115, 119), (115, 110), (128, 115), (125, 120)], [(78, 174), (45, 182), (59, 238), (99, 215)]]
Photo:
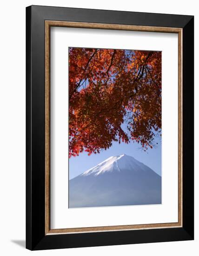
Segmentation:
[(69, 48), (69, 157), (161, 135), (161, 52)]

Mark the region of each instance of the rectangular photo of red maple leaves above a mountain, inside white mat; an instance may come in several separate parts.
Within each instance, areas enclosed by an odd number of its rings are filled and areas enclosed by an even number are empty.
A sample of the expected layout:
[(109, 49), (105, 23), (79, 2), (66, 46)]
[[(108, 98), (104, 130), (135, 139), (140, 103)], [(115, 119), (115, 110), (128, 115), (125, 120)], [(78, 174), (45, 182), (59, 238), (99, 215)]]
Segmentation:
[(68, 62), (68, 207), (161, 204), (161, 51), (68, 47)]

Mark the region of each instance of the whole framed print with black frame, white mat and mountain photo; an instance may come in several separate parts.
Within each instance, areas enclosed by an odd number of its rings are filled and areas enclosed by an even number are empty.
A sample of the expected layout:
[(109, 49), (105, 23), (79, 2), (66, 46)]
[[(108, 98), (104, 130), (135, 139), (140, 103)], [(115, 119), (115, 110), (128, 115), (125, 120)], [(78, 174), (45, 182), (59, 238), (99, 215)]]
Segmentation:
[(27, 249), (192, 240), (193, 16), (26, 22)]

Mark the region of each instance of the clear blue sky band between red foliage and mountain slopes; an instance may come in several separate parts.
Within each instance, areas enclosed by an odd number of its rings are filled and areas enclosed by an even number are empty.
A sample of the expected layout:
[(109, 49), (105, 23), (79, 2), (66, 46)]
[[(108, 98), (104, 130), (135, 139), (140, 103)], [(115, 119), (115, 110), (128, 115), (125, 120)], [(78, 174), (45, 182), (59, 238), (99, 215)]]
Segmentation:
[(73, 179), (110, 156), (122, 154), (133, 156), (161, 175), (161, 139), (157, 138), (154, 143), (156, 142), (158, 142), (157, 147), (149, 148), (146, 152), (141, 150), (140, 145), (136, 142), (130, 142), (129, 144), (113, 142), (111, 148), (103, 150), (99, 154), (88, 156), (86, 152), (83, 152), (77, 157), (71, 157), (69, 160), (69, 179)]

